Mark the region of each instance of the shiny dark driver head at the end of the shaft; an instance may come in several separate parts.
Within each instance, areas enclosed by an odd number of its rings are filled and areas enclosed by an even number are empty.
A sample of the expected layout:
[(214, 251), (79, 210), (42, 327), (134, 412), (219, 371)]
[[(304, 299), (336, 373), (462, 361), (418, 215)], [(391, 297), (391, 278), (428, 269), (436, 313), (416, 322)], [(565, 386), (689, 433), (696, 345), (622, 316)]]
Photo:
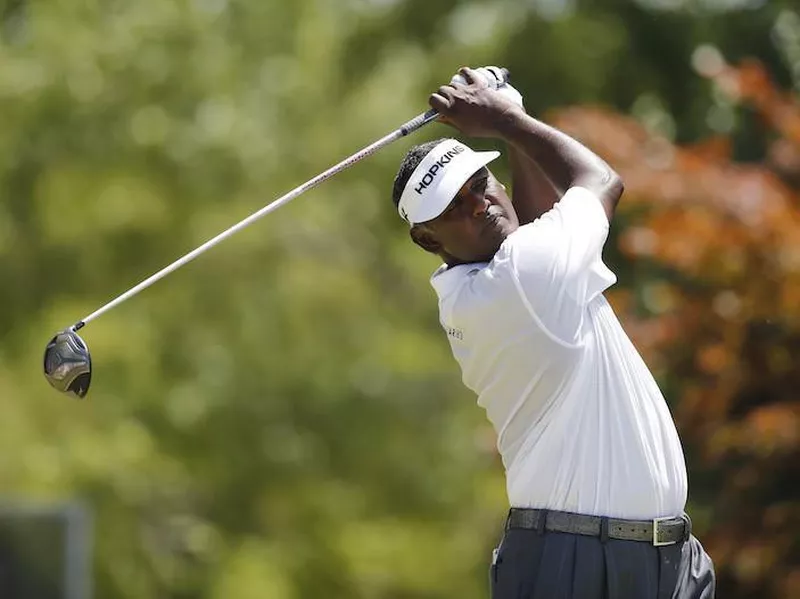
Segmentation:
[(44, 350), (44, 376), (50, 385), (78, 399), (89, 391), (92, 358), (83, 339), (65, 329), (50, 340)]

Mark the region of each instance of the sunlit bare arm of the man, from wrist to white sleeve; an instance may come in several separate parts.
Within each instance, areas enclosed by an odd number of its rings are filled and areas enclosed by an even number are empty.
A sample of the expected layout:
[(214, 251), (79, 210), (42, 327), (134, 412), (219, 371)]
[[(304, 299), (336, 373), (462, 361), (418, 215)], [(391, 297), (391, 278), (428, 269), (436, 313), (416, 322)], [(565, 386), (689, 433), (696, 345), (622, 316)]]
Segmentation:
[(497, 130), (509, 146), (535, 162), (557, 189), (581, 186), (594, 192), (611, 218), (622, 195), (622, 181), (589, 148), (521, 109), (506, 112)]

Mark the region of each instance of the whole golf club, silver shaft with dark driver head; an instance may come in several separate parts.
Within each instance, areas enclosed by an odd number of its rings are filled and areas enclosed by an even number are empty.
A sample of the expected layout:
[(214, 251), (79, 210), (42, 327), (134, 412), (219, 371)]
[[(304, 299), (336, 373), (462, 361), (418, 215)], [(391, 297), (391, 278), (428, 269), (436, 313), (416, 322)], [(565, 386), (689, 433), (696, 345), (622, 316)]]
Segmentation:
[[(498, 67), (485, 67), (482, 68), (481, 73), (487, 76), (487, 80), (489, 85), (493, 88), (497, 89), (502, 87), (509, 78), (508, 71), (506, 69), (500, 69)], [(453, 77), (452, 81), (458, 81), (461, 83), (465, 83), (464, 78), (461, 75), (456, 75)], [(203, 252), (211, 249), (219, 242), (227, 239), (237, 231), (241, 231), (248, 225), (253, 224), (255, 221), (260, 219), (263, 216), (266, 216), (270, 212), (280, 208), (284, 204), (295, 199), (297, 196), (305, 193), (309, 189), (312, 189), (319, 185), (320, 183), (327, 181), (337, 173), (342, 172), (343, 170), (353, 166), (356, 162), (363, 160), (367, 156), (370, 156), (380, 150), (381, 148), (386, 147), (387, 145), (391, 144), (394, 141), (397, 141), (401, 137), (405, 137), (409, 133), (420, 129), (424, 125), (427, 125), (431, 121), (434, 121), (438, 116), (438, 113), (434, 109), (427, 110), (422, 114), (417, 115), (413, 119), (407, 121), (399, 128), (395, 129), (388, 135), (380, 138), (379, 140), (373, 142), (372, 144), (366, 146), (362, 150), (359, 150), (355, 154), (345, 158), (338, 164), (335, 164), (328, 170), (320, 173), (313, 179), (306, 181), (302, 185), (295, 187), (289, 193), (281, 196), (271, 204), (261, 208), (257, 212), (254, 212), (247, 218), (239, 221), (232, 227), (228, 228), (227, 230), (223, 231), (216, 237), (209, 239), (203, 245), (197, 247), (196, 249), (192, 250), (185, 256), (177, 259), (172, 264), (164, 267), (154, 275), (148, 277), (135, 287), (132, 287), (119, 297), (111, 300), (106, 305), (98, 308), (88, 316), (85, 316), (83, 319), (76, 322), (74, 325), (67, 327), (63, 331), (57, 333), (47, 344), (47, 347), (44, 351), (44, 375), (50, 385), (53, 388), (66, 393), (68, 395), (72, 395), (78, 399), (82, 399), (86, 396), (86, 393), (89, 391), (89, 384), (92, 380), (92, 359), (91, 355), (89, 354), (89, 348), (86, 343), (81, 339), (80, 335), (78, 335), (77, 331), (85, 327), (89, 324), (92, 320), (97, 318), (98, 316), (108, 312), (112, 308), (118, 306), (122, 302), (127, 299), (130, 299), (140, 291), (147, 289), (155, 283), (156, 281), (163, 279), (168, 274), (178, 270), (184, 264), (194, 260)]]

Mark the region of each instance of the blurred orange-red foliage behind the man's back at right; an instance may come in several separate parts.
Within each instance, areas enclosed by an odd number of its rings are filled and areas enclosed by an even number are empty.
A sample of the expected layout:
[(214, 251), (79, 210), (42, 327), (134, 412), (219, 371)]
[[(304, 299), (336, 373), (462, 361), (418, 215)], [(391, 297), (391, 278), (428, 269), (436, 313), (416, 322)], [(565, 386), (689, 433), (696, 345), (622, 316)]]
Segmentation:
[(754, 61), (706, 75), (759, 116), (760, 163), (602, 108), (551, 120), (625, 181), (611, 299), (664, 381), (718, 596), (800, 597), (800, 103)]

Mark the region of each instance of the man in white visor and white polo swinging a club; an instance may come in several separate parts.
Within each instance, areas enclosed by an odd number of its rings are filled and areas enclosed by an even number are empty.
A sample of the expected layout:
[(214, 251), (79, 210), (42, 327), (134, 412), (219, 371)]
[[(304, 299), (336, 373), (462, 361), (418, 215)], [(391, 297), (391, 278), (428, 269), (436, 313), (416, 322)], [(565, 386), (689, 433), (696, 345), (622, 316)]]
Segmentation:
[(505, 142), (513, 203), (486, 166), (499, 153), (454, 139), (412, 148), (393, 196), (414, 243), (444, 262), (431, 279), (440, 321), (497, 432), (511, 509), (492, 596), (713, 597), (678, 434), (603, 296), (622, 181), (513, 88), (492, 89), (490, 70), (460, 74), (430, 105)]

